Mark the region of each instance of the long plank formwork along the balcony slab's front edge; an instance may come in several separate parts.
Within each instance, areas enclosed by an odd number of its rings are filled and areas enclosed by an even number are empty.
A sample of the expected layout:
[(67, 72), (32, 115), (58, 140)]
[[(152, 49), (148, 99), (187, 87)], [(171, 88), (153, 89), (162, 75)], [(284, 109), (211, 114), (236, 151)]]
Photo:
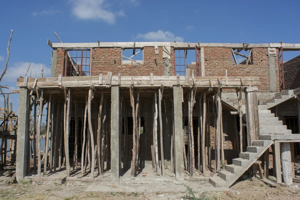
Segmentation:
[[(224, 85), (226, 83), (226, 77), (225, 76), (219, 76), (219, 77), (206, 77), (206, 76), (197, 76), (194, 77), (195, 84), (197, 86), (208, 86), (209, 79), (211, 79), (211, 82), (214, 85), (218, 84), (218, 80), (221, 81), (221, 84)], [(35, 78), (28, 78), (27, 86), (33, 86)], [(112, 85), (118, 85), (118, 76), (111, 76), (108, 77), (103, 83), (112, 84)], [(244, 85), (259, 85), (260, 81), (258, 77), (243, 77), (243, 84)], [(149, 76), (121, 76), (121, 86), (131, 85), (133, 80), (134, 85), (151, 85), (151, 78)], [(47, 78), (38, 78), (38, 81), (36, 83), (37, 87), (56, 87), (59, 88), (58, 84), (58, 77), (47, 77)], [(91, 76), (63, 76), (62, 77), (63, 84), (67, 87), (73, 87), (73, 86), (89, 86), (91, 84), (94, 84), (95, 86), (103, 86), (99, 84), (99, 76), (97, 75), (91, 75)], [(189, 82), (192, 84), (192, 78), (189, 78)], [(236, 87), (240, 86), (240, 77), (227, 77), (228, 85), (226, 87)], [(172, 86), (174, 84), (181, 84), (185, 85), (185, 77), (184, 76), (153, 76), (153, 85), (160, 85), (163, 84), (165, 86)], [(24, 86), (23, 84), (23, 78), (17, 79), (17, 86)]]

